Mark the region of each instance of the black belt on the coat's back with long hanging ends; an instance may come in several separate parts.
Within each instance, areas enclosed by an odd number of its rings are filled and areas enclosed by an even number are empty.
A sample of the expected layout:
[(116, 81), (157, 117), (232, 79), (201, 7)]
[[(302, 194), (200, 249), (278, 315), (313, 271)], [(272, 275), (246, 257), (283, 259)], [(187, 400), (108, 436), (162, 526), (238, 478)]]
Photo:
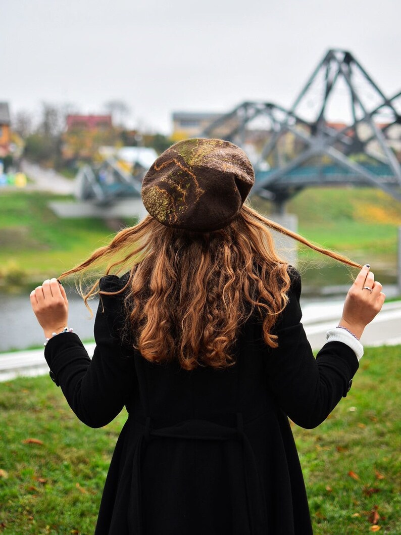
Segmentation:
[[(243, 430), (242, 414), (238, 413), (236, 427), (219, 425), (205, 420), (187, 420), (173, 426), (152, 429), (151, 419), (149, 417), (146, 418), (145, 429), (136, 446), (133, 460), (131, 483), (132, 507), (129, 508), (128, 517), (130, 534), (144, 535), (141, 508), (141, 461), (146, 446), (151, 440), (156, 440), (158, 438), (240, 441), (242, 443), (248, 523), (243, 526), (236, 525), (233, 533), (241, 533), (241, 535), (266, 535), (268, 533), (266, 502), (260, 483), (255, 454), (253, 453), (251, 443)], [(230, 458), (229, 461), (232, 461), (232, 458)], [(230, 462), (230, 464), (232, 463)], [(229, 467), (229, 470), (236, 470), (237, 466), (238, 464), (235, 462), (231, 468)]]

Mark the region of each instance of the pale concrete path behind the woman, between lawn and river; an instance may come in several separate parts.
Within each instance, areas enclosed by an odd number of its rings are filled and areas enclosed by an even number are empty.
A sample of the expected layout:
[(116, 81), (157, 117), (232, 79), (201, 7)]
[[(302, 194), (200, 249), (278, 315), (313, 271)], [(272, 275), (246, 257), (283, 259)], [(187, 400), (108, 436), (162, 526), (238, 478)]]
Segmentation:
[[(303, 324), (313, 349), (320, 349), (326, 342), (326, 331), (337, 324), (342, 307), (343, 301), (304, 305)], [(401, 302), (384, 304), (380, 314), (366, 327), (361, 342), (365, 346), (401, 345)], [(92, 355), (95, 344), (88, 343), (85, 347)], [(0, 381), (44, 375), (48, 371), (43, 349), (0, 354)]]

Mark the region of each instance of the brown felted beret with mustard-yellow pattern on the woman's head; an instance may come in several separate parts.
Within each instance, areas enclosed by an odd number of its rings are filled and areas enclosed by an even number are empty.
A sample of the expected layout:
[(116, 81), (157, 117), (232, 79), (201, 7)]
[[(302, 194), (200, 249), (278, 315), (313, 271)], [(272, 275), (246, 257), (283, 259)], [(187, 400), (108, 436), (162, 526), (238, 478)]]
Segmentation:
[(245, 152), (220, 139), (175, 143), (146, 173), (142, 200), (163, 225), (209, 232), (232, 221), (255, 182)]

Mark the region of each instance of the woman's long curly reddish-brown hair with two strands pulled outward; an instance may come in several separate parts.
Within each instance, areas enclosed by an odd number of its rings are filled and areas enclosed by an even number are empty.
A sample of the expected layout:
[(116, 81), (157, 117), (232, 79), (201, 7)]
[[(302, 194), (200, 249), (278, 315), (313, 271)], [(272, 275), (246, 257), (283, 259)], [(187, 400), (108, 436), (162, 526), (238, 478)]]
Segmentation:
[[(185, 370), (199, 365), (225, 368), (234, 363), (232, 349), (241, 325), (255, 312), (266, 344), (277, 347), (272, 330), (286, 307), (290, 276), (269, 228), (361, 267), (244, 204), (232, 223), (208, 233), (166, 227), (148, 216), (61, 277), (82, 276), (104, 261), (112, 261), (106, 274), (129, 268), (127, 284), (115, 293), (125, 292), (125, 335), (142, 356), (157, 363), (177, 358)], [(86, 292), (81, 286), (86, 304), (99, 293), (98, 282)]]

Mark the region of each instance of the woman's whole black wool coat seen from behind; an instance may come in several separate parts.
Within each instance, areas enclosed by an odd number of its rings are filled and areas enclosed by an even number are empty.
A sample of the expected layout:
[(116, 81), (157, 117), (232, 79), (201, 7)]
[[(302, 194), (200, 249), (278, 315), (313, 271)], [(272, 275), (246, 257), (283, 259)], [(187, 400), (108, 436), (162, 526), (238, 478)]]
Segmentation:
[[(107, 276), (115, 291), (124, 278)], [(309, 535), (302, 471), (288, 417), (312, 428), (349, 390), (352, 349), (329, 342), (312, 355), (300, 323), (300, 278), (269, 349), (260, 320), (243, 326), (236, 364), (184, 371), (151, 364), (122, 344), (123, 297), (102, 296), (92, 360), (65, 333), (45, 348), (50, 375), (76, 416), (101, 427), (126, 406), (95, 535)]]

